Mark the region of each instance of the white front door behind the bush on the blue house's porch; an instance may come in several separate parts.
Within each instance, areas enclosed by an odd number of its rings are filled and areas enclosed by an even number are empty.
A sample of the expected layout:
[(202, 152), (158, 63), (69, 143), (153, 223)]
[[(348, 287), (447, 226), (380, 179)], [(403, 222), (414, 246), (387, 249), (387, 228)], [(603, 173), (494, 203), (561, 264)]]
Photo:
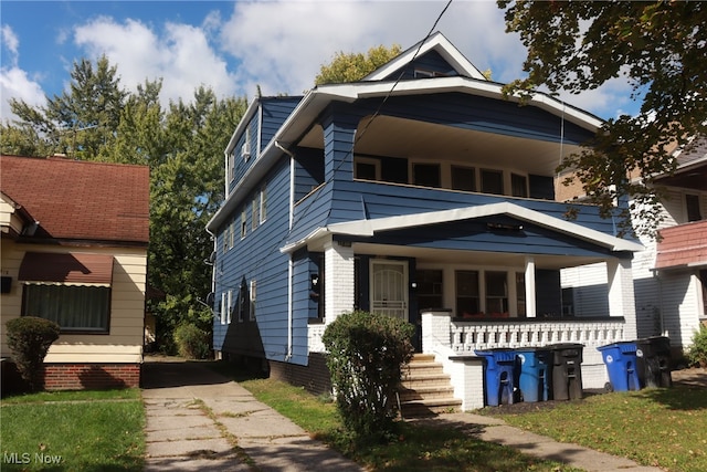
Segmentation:
[(371, 260), (371, 312), (408, 321), (408, 262)]

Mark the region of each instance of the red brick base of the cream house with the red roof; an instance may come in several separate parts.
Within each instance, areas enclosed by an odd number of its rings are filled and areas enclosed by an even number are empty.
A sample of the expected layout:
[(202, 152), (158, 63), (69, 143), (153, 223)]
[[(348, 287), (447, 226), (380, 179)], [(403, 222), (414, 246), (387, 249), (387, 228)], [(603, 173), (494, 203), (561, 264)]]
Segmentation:
[(139, 364), (46, 364), (46, 390), (139, 387)]

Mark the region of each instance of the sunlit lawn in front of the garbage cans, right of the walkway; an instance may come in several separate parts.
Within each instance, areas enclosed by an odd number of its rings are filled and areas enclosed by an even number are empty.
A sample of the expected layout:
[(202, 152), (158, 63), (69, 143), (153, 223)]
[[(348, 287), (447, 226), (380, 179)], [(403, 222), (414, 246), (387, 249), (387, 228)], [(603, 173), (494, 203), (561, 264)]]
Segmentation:
[(513, 426), (672, 472), (707, 471), (707, 391), (675, 386), (504, 415)]

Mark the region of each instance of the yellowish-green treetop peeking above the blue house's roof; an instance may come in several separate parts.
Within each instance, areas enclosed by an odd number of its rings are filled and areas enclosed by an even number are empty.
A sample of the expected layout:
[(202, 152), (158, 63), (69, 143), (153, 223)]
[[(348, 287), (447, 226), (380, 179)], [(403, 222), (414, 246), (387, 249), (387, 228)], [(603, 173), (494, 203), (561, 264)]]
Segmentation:
[(342, 51), (336, 53), (328, 65), (321, 65), (319, 74), (315, 77), (315, 85), (341, 84), (360, 81), (391, 59), (400, 54), (400, 45), (393, 44), (390, 49), (379, 45), (368, 50), (368, 54), (349, 53)]

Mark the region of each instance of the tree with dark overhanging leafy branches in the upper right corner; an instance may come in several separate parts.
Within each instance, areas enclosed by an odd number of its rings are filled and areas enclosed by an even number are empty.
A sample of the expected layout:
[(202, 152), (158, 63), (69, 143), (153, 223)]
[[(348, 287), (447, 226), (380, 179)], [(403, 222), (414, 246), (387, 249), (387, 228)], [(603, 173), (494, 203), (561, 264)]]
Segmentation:
[(573, 170), (585, 193), (604, 216), (613, 202), (633, 199), (620, 217), (630, 232), (631, 212), (654, 234), (661, 198), (654, 178), (673, 172), (676, 146), (704, 136), (707, 118), (707, 3), (705, 2), (535, 2), (499, 0), (508, 32), (520, 33), (528, 49), (528, 76), (506, 87), (529, 96), (538, 86), (551, 93), (579, 93), (614, 77), (625, 77), (636, 116), (605, 122), (585, 150), (558, 170)]

